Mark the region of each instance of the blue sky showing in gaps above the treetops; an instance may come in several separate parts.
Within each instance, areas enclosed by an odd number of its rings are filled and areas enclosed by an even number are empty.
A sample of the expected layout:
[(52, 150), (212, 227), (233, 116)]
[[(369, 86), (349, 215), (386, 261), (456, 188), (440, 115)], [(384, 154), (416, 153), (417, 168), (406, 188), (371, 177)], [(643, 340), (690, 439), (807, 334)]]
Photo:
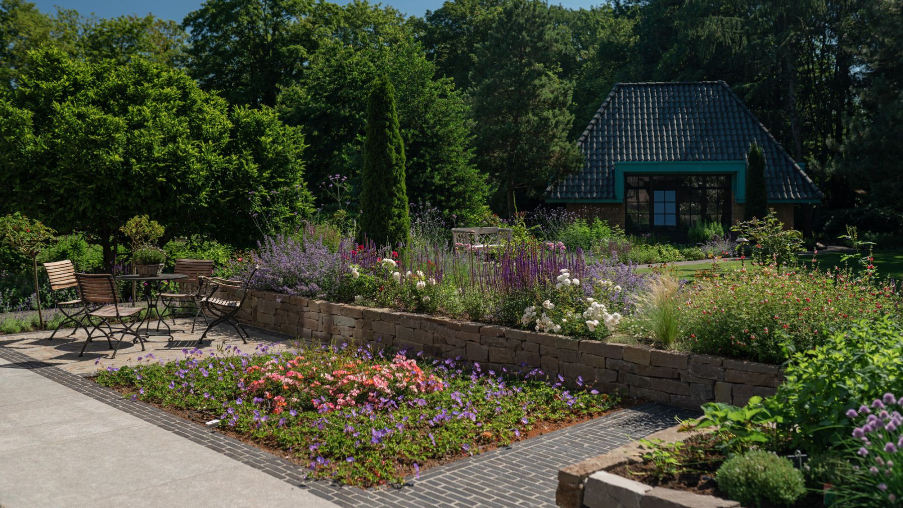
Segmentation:
[[(147, 14), (153, 13), (164, 19), (172, 19), (182, 22), (185, 14), (197, 9), (200, 0), (157, 0), (146, 2), (142, 0), (32, 0), (38, 8), (45, 13), (56, 10), (55, 5), (67, 9), (75, 9), (81, 14), (97, 14), (102, 18), (116, 17), (123, 14)], [(335, 1), (335, 0), (333, 0)], [(589, 7), (600, 5), (604, 0), (552, 0), (552, 4), (561, 4), (565, 7)], [(393, 5), (399, 11), (409, 15), (424, 15), (427, 9), (436, 10), (442, 6), (442, 0), (388, 0), (383, 4)]]

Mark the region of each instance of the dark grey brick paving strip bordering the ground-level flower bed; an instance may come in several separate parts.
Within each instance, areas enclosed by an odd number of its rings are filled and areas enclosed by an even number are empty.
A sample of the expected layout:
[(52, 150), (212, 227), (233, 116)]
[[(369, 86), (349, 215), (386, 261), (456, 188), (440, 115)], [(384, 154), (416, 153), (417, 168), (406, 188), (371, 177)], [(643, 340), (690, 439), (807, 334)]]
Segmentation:
[(433, 467), (419, 479), (409, 478), (402, 488), (362, 490), (326, 481), (306, 479), (302, 466), (259, 448), (229, 438), (197, 423), (182, 420), (144, 402), (124, 399), (120, 393), (92, 383), (59, 367), (0, 347), (0, 358), (12, 362), (4, 368), (26, 368), (126, 411), (161, 429), (190, 439), (243, 464), (300, 488), (311, 489), (332, 503), (361, 508), (482, 508), (554, 506), (557, 472), (568, 464), (605, 453), (674, 424), (675, 417), (691, 418), (695, 411), (648, 402), (607, 416), (578, 423), (499, 448)]

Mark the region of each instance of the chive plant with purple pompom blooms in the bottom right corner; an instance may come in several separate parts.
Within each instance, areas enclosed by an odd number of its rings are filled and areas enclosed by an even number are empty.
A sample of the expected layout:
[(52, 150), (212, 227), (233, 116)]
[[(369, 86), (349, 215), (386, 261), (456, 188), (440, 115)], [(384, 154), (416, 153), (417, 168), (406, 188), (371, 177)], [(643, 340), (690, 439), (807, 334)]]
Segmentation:
[(853, 477), (837, 487), (838, 505), (896, 506), (903, 503), (903, 397), (885, 393), (847, 411), (856, 425), (849, 438)]

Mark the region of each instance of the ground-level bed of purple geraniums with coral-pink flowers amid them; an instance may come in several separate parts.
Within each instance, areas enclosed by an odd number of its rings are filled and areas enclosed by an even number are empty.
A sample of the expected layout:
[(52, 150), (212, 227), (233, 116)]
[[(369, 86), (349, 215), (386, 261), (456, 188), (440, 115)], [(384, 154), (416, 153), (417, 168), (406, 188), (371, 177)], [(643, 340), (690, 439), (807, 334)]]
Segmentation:
[(285, 353), (185, 350), (185, 358), (101, 371), (134, 399), (201, 411), (282, 448), (311, 476), (350, 485), (397, 484), (420, 468), (504, 446), (537, 425), (610, 411), (617, 397), (568, 390), (539, 371), (523, 376), (452, 360), (349, 347)]

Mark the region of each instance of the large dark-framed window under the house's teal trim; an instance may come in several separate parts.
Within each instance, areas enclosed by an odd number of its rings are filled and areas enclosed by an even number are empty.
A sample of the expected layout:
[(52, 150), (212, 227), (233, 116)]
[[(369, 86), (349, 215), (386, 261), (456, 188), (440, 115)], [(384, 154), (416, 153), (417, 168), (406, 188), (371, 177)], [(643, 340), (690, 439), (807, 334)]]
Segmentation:
[(631, 175), (624, 190), (631, 232), (685, 232), (703, 220), (731, 223), (727, 175)]

